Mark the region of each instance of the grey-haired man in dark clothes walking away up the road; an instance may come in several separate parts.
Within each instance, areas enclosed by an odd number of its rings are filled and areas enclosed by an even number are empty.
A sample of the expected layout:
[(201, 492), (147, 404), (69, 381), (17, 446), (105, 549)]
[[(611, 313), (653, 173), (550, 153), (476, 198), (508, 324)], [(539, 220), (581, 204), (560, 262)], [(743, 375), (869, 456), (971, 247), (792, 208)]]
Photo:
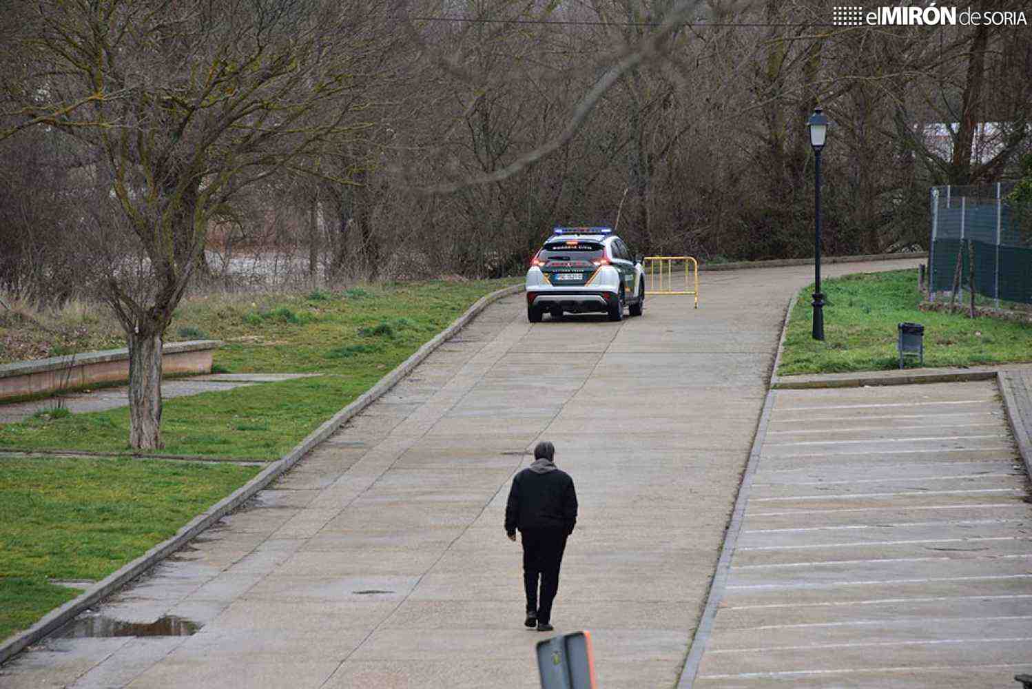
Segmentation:
[[(523, 588), (526, 619), (538, 631), (551, 631), (552, 601), (559, 588), (559, 567), (567, 537), (577, 525), (577, 491), (570, 474), (555, 466), (555, 447), (534, 449), (534, 463), (516, 474), (506, 503), (506, 533), (523, 543)], [(541, 597), (538, 580), (541, 579)]]

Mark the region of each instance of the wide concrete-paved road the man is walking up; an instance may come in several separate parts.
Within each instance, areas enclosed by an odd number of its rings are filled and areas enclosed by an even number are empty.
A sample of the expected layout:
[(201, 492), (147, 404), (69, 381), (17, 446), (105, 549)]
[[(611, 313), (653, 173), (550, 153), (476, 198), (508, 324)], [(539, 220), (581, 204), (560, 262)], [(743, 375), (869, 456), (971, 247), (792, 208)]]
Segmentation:
[[(830, 266), (829, 274), (916, 262)], [(601, 686), (671, 687), (717, 559), (789, 296), (704, 273), (702, 306), (530, 326), (488, 308), (250, 508), (99, 614), (190, 636), (51, 639), (4, 687), (536, 687), (506, 491), (539, 439), (582, 504), (553, 613)]]

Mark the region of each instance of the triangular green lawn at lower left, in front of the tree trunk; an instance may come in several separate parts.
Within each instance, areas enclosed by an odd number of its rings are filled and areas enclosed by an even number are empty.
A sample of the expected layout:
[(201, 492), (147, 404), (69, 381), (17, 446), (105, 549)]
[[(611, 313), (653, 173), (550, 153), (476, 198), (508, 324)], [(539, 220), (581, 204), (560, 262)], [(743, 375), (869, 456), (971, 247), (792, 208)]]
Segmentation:
[(260, 467), (129, 459), (0, 458), (0, 638), (103, 579)]

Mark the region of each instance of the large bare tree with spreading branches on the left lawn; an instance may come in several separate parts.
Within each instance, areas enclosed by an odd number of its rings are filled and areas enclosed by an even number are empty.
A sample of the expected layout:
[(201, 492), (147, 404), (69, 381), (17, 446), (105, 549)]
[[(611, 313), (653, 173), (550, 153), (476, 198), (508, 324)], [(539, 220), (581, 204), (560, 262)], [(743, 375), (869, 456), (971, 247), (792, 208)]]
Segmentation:
[[(130, 351), (132, 448), (162, 447), (161, 350), (202, 261), (213, 219), (282, 171), (312, 172), (321, 152), (355, 147), (373, 127), (363, 53), (389, 36), (386, 3), (336, 0), (37, 0), (15, 4), (22, 31), (4, 83), (0, 136), (68, 137), (118, 215), (106, 231), (141, 261), (98, 265)], [(326, 176), (326, 175), (324, 175)], [(346, 176), (336, 181), (346, 183)]]

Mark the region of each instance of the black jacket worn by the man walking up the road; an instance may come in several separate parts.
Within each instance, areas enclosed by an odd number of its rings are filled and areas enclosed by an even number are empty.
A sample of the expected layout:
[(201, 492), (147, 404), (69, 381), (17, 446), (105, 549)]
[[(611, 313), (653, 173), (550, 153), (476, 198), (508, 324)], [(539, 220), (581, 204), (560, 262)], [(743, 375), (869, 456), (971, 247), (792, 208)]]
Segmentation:
[(537, 473), (523, 469), (513, 479), (506, 504), (506, 532), (562, 527), (569, 535), (577, 524), (574, 480), (560, 469)]

